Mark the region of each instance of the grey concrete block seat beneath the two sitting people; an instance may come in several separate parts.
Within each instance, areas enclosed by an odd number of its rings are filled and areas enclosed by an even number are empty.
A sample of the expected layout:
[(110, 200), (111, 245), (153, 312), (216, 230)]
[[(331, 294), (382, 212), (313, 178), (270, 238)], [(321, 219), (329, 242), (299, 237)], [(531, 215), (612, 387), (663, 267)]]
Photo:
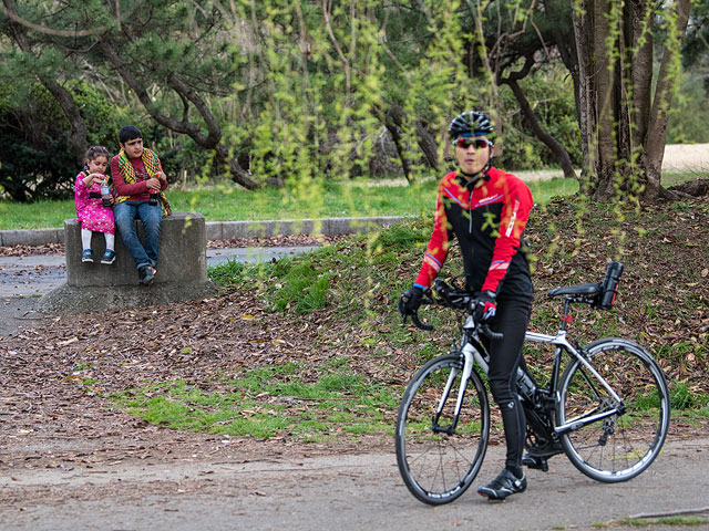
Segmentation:
[[(143, 223), (136, 221), (143, 240)], [(100, 263), (105, 250), (102, 233), (94, 232), (91, 248), (94, 262), (81, 261), (81, 226), (64, 221), (66, 282), (42, 296), (38, 309), (44, 313), (83, 313), (109, 309), (165, 304), (212, 296), (216, 287), (207, 277), (206, 229), (201, 214), (176, 212), (163, 218), (157, 274), (152, 285), (141, 285), (135, 262), (115, 237), (116, 260)]]

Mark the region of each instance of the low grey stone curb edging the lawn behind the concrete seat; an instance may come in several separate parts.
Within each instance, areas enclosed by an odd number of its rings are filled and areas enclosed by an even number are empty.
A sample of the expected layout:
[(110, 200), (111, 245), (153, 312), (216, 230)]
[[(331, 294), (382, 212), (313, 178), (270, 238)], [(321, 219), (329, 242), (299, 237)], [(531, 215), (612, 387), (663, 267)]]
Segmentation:
[[(367, 232), (395, 225), (415, 216), (378, 216), (370, 218), (278, 219), (263, 221), (208, 221), (207, 240), (265, 238), (269, 236), (339, 236)], [(0, 230), (0, 247), (64, 243), (64, 229)]]

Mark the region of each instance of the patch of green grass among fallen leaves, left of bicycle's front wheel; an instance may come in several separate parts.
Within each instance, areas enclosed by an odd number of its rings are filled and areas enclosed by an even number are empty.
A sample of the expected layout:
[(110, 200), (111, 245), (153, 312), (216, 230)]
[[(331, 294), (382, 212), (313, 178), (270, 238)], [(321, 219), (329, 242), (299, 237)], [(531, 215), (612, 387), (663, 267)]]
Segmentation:
[[(295, 363), (254, 368), (235, 379), (220, 378), (203, 391), (183, 381), (133, 388), (111, 398), (155, 425), (235, 437), (289, 435), (318, 441), (335, 434), (388, 434), (401, 389), (350, 373), (347, 358), (332, 363), (317, 382), (300, 377)], [(337, 367), (336, 365), (342, 365)]]

